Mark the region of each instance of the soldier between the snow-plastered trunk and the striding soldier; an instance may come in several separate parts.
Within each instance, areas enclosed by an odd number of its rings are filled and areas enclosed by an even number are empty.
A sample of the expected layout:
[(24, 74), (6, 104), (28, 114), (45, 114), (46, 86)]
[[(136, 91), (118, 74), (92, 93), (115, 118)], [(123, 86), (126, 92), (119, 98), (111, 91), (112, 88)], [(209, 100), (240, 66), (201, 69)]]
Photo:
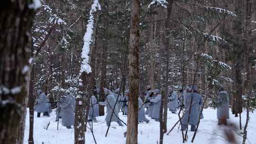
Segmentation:
[(90, 99), (90, 108), (89, 108), (89, 120), (88, 121), (94, 121), (97, 123), (97, 118), (99, 117), (99, 103), (98, 100), (94, 95), (91, 96)]

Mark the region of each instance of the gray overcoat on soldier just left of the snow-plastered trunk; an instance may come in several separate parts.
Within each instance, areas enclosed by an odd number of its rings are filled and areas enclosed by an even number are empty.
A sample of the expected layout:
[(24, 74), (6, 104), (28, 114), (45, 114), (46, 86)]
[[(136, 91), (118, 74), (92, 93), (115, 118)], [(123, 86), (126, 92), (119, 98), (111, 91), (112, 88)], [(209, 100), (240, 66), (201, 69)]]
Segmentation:
[(60, 108), (62, 114), (62, 126), (74, 125), (74, 111), (72, 106), (72, 99), (64, 96), (60, 99)]

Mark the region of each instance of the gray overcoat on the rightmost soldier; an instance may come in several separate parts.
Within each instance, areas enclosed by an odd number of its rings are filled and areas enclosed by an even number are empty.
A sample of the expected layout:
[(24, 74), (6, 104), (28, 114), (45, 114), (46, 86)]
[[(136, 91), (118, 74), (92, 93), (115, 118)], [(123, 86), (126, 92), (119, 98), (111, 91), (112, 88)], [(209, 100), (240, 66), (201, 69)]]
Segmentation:
[(220, 91), (217, 100), (217, 118), (229, 119), (229, 94), (227, 91)]

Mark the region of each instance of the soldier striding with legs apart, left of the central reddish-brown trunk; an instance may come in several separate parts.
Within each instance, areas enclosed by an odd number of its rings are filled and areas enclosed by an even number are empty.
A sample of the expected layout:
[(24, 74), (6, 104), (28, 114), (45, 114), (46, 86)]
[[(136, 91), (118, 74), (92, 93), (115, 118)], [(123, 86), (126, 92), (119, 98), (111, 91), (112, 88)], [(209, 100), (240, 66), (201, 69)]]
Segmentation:
[[(105, 117), (107, 126), (110, 126), (110, 123), (113, 121), (117, 122), (119, 124), (119, 126), (123, 126), (121, 121), (119, 120), (118, 107), (116, 106), (114, 109), (116, 98), (112, 94), (110, 94), (110, 90), (108, 90), (106, 88), (104, 88), (104, 93), (106, 95), (106, 100), (100, 101), (99, 104), (107, 106), (107, 115)], [(114, 110), (114, 113), (111, 118), (111, 114), (112, 114), (113, 110)], [(110, 121), (110, 119), (111, 119), (111, 121)]]

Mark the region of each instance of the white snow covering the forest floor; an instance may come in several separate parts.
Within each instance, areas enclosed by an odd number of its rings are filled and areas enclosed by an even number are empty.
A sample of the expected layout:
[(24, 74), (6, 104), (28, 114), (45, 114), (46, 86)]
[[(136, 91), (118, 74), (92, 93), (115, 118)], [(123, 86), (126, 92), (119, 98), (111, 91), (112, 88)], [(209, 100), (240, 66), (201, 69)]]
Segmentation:
[[(28, 110), (27, 110), (28, 111)], [(204, 109), (204, 119), (201, 120), (198, 134), (193, 144), (229, 144), (222, 136), (223, 126), (217, 126), (216, 110), (212, 108)], [(235, 123), (239, 126), (239, 118), (231, 115), (229, 122)], [(41, 114), (42, 115), (42, 114)], [(40, 117), (37, 118), (37, 113), (34, 114), (34, 141), (35, 144), (73, 144), (74, 140), (74, 129), (66, 129), (66, 127), (59, 123), (59, 130), (57, 131), (57, 122), (55, 122), (55, 112), (51, 113), (51, 117)], [(127, 116), (123, 116), (119, 113), (120, 119), (127, 122)], [(109, 130), (109, 134), (105, 137), (107, 131), (106, 122), (104, 121), (105, 116), (98, 117), (99, 123), (93, 123), (93, 131), (96, 137), (97, 144), (125, 144), (126, 138), (123, 133), (126, 131), (126, 126), (118, 126), (117, 123), (112, 122)], [(178, 121), (177, 114), (171, 114), (168, 112), (167, 128), (168, 130)], [(149, 118), (150, 119), (150, 118)], [(44, 129), (47, 122), (50, 121), (48, 130)], [(244, 126), (246, 121), (246, 112), (242, 114), (242, 124)], [(256, 144), (256, 114), (250, 114), (250, 122), (248, 125), (248, 144)], [(178, 125), (169, 135), (164, 135), (164, 144), (182, 144), (182, 133), (178, 130)], [(237, 130), (238, 133), (240, 130)], [(29, 112), (26, 117), (26, 128), (24, 144), (27, 144), (29, 133)], [(242, 137), (235, 133), (239, 144), (241, 144)], [(188, 142), (192, 139), (193, 132), (188, 131)], [(86, 144), (95, 144), (91, 131), (88, 130), (85, 136)], [(148, 124), (142, 123), (138, 125), (138, 144), (158, 144), (159, 142), (159, 123), (155, 120), (151, 120)]]

